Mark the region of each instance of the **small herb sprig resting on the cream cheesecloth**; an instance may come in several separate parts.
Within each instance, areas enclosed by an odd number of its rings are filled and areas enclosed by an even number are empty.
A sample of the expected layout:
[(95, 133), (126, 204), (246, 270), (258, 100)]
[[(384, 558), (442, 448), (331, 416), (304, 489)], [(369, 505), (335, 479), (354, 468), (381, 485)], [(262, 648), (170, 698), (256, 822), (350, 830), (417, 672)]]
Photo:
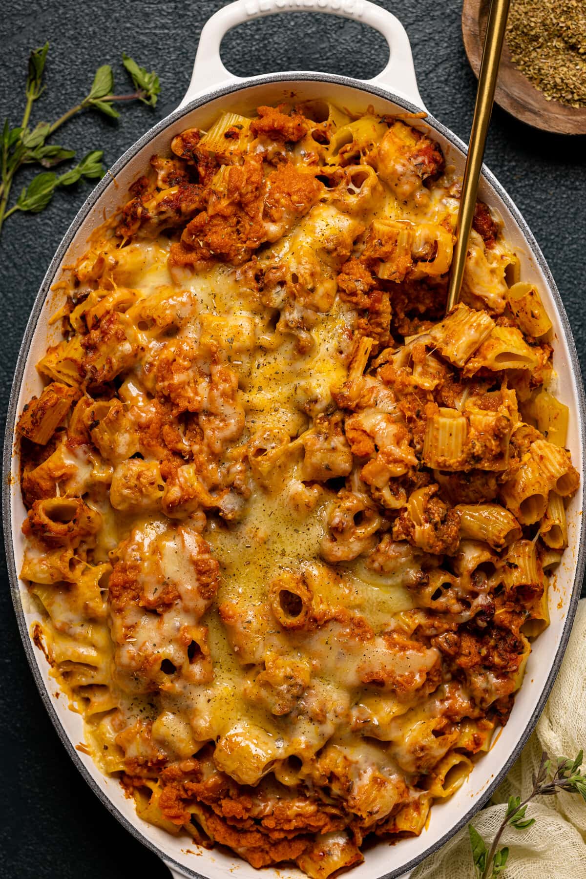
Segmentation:
[(482, 839), (481, 834), (472, 825), (468, 825), (474, 867), (479, 879), (495, 879), (502, 873), (509, 857), (509, 849), (507, 846), (499, 849), (498, 844), (507, 825), (516, 827), (517, 830), (526, 830), (527, 827), (535, 824), (535, 818), (525, 817), (527, 803), (530, 803), (534, 796), (553, 796), (559, 790), (567, 790), (570, 794), (580, 794), (586, 802), (586, 775), (579, 772), (580, 766), (582, 766), (582, 756), (581, 751), (575, 760), (569, 760), (566, 757), (550, 760), (544, 751), (541, 755), (539, 770), (532, 777), (531, 794), (523, 803), (521, 803), (519, 796), (510, 796), (503, 823), (490, 848)]

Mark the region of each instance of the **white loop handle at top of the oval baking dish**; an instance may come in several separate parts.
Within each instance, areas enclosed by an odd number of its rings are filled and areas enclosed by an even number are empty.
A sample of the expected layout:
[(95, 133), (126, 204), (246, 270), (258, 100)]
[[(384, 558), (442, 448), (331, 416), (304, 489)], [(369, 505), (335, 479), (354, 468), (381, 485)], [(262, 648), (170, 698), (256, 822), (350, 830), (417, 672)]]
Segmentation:
[(196, 95), (213, 86), (247, 82), (242, 77), (229, 73), (221, 62), (221, 40), (229, 30), (253, 18), (292, 11), (328, 12), (331, 15), (352, 18), (380, 31), (388, 43), (387, 66), (378, 76), (366, 82), (380, 85), (425, 109), (417, 88), (413, 56), (405, 28), (391, 12), (370, 3), (369, 0), (235, 0), (235, 3), (223, 6), (214, 12), (202, 28), (193, 64), (192, 81), (179, 106), (189, 104)]

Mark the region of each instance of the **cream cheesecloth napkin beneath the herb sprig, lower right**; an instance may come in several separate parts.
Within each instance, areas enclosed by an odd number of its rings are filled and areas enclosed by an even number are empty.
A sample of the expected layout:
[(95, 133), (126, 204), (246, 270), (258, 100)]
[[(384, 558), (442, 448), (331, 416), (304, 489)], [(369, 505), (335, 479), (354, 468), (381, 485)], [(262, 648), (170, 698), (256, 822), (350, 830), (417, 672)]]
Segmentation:
[[(488, 808), (472, 824), (490, 846), (503, 821), (510, 795), (522, 800), (532, 791), (532, 774), (541, 752), (574, 759), (586, 751), (586, 599), (575, 615), (561, 671), (532, 737)], [(586, 803), (579, 794), (563, 791), (536, 797), (526, 817), (527, 830), (507, 827), (500, 845), (509, 846), (509, 860), (500, 879), (586, 879)], [(412, 873), (411, 879), (475, 879), (468, 831), (465, 827)]]

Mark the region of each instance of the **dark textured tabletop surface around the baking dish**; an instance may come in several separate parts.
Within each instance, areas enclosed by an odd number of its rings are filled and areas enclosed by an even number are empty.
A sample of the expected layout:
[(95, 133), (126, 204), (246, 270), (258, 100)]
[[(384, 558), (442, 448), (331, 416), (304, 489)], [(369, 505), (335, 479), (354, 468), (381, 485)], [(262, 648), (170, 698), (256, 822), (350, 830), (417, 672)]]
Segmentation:
[[(32, 47), (51, 43), (47, 91), (33, 121), (54, 120), (89, 90), (99, 64), (112, 63), (117, 88), (126, 91), (119, 62), (126, 51), (155, 68), (162, 94), (156, 111), (126, 105), (118, 122), (86, 113), (69, 122), (58, 142), (82, 156), (105, 149), (112, 163), (146, 128), (174, 108), (187, 87), (201, 25), (222, 4), (214, 0), (5, 0), (0, 25), (0, 120), (18, 124), (26, 59)], [(467, 140), (475, 81), (459, 29), (457, 0), (383, 2), (407, 28), (420, 91), (438, 119)], [(385, 41), (364, 25), (310, 13), (242, 25), (222, 45), (228, 69), (240, 76), (281, 69), (318, 69), (374, 76), (387, 58)], [(525, 127), (498, 108), (486, 161), (529, 222), (574, 327), (586, 367), (586, 138), (567, 139)], [(31, 171), (31, 175), (32, 175)], [(18, 180), (16, 191), (27, 179)], [(4, 423), (14, 363), (33, 299), (48, 262), (90, 191), (59, 192), (36, 216), (15, 214), (0, 240), (2, 342), (0, 393)], [(127, 879), (163, 877), (166, 869), (122, 831), (90, 793), (54, 733), (25, 661), (2, 571), (0, 590), (0, 875), (18, 879)]]

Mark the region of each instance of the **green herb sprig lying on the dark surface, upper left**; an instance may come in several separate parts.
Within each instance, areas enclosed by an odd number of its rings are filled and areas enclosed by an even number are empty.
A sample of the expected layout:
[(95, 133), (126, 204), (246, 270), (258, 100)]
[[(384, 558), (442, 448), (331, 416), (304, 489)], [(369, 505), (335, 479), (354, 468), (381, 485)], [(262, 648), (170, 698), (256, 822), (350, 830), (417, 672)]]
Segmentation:
[(35, 127), (30, 127), (33, 104), (45, 91), (44, 72), (47, 60), (49, 44), (36, 48), (28, 61), (28, 73), (26, 76), (26, 104), (22, 121), (19, 126), (11, 127), (9, 120), (4, 120), (4, 127), (0, 134), (0, 163), (2, 178), (0, 180), (0, 232), (4, 221), (16, 211), (27, 211), (32, 214), (39, 213), (47, 207), (53, 198), (54, 192), (61, 186), (70, 186), (81, 178), (98, 179), (104, 176), (102, 166), (104, 153), (101, 149), (94, 149), (84, 156), (64, 174), (57, 175), (54, 171), (41, 171), (28, 186), (23, 187), (18, 199), (9, 207), (11, 186), (18, 170), (25, 164), (37, 163), (41, 167), (50, 169), (54, 165), (73, 158), (76, 153), (73, 149), (66, 149), (56, 143), (49, 143), (48, 139), (65, 122), (82, 113), (83, 110), (98, 110), (112, 119), (119, 118), (119, 111), (113, 106), (119, 101), (139, 100), (143, 104), (154, 107), (160, 91), (159, 77), (156, 73), (148, 73), (140, 67), (126, 53), (122, 53), (122, 63), (127, 69), (133, 84), (134, 91), (130, 94), (114, 94), (114, 76), (109, 64), (103, 64), (96, 71), (90, 91), (79, 104), (71, 107), (67, 113), (63, 113), (54, 122), (38, 122)]

